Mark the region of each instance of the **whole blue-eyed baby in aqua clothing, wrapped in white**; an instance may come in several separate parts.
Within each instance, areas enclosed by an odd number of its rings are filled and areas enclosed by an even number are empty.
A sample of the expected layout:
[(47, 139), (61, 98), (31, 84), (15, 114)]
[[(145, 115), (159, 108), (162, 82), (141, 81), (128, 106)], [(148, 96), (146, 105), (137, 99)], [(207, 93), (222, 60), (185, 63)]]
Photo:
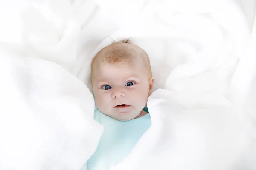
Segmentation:
[(91, 85), (97, 109), (94, 119), (104, 125), (88, 170), (108, 170), (122, 161), (151, 126), (145, 107), (154, 84), (146, 52), (129, 39), (100, 50), (91, 63)]

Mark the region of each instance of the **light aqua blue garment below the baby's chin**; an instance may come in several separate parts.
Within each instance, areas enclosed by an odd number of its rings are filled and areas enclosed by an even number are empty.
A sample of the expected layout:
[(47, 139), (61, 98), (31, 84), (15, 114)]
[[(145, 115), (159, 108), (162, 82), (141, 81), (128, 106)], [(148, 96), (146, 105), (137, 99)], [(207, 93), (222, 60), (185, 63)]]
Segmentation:
[[(148, 112), (147, 108), (143, 110)], [(88, 170), (108, 170), (111, 164), (119, 164), (151, 126), (149, 113), (137, 119), (119, 121), (96, 109), (94, 119), (104, 125), (104, 131), (95, 153), (87, 161)]]

